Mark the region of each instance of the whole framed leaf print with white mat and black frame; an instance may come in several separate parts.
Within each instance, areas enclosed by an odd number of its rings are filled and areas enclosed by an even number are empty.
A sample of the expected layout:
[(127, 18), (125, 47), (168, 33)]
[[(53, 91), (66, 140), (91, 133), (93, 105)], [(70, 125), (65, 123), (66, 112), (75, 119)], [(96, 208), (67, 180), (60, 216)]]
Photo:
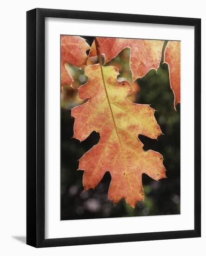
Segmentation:
[(27, 12), (27, 244), (201, 235), (200, 31)]

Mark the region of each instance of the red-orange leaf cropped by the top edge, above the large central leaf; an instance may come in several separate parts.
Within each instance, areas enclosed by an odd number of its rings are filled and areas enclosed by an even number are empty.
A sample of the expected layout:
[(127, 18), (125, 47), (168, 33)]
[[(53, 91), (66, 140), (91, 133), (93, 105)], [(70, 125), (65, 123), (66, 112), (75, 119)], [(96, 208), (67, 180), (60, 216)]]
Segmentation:
[[(150, 69), (157, 69), (161, 61), (163, 40), (143, 40), (96, 37), (100, 54), (105, 54), (105, 62), (111, 61), (120, 51), (130, 48), (130, 68), (133, 81), (143, 77)], [(95, 40), (90, 49), (89, 57), (97, 56)]]

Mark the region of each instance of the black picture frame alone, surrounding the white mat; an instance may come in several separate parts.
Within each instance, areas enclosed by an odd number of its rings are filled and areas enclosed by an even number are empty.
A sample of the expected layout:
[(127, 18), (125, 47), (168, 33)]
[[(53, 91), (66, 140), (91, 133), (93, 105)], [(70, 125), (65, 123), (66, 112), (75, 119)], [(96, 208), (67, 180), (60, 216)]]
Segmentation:
[[(140, 22), (194, 27), (194, 229), (45, 239), (45, 18)], [(53, 247), (201, 236), (201, 20), (57, 9), (27, 12), (27, 244)]]

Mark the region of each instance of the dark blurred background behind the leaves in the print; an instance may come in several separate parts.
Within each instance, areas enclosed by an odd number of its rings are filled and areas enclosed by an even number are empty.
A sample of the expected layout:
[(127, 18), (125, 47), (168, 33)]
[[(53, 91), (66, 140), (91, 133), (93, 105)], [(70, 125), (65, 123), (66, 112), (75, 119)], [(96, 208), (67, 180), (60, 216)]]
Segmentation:
[[(93, 37), (84, 37), (90, 45)], [(166, 46), (166, 42), (163, 47)], [(114, 65), (120, 69), (120, 79), (131, 79), (129, 70), (130, 50), (126, 48), (107, 65)], [(87, 63), (88, 64), (88, 63)], [(89, 63), (90, 64), (90, 63)], [(74, 84), (78, 87), (86, 82), (83, 70), (70, 67), (76, 74)], [(74, 75), (75, 76), (75, 75)], [(106, 172), (95, 189), (83, 191), (83, 171), (78, 169), (78, 159), (86, 151), (97, 144), (100, 135), (93, 132), (81, 143), (73, 137), (74, 119), (71, 117), (71, 108), (81, 104), (77, 99), (78, 90), (64, 90), (61, 100), (61, 220), (108, 218), (126, 216), (169, 215), (180, 213), (180, 104), (175, 111), (174, 95), (170, 88), (168, 67), (163, 63), (163, 54), (160, 66), (150, 70), (143, 78), (135, 81), (136, 92), (128, 97), (135, 103), (150, 104), (157, 110), (155, 118), (164, 135), (158, 140), (139, 135), (144, 144), (144, 150), (153, 149), (164, 157), (166, 179), (159, 182), (144, 174), (142, 176), (145, 191), (145, 202), (138, 202), (132, 209), (121, 199), (116, 206), (108, 200), (108, 188), (111, 175)]]

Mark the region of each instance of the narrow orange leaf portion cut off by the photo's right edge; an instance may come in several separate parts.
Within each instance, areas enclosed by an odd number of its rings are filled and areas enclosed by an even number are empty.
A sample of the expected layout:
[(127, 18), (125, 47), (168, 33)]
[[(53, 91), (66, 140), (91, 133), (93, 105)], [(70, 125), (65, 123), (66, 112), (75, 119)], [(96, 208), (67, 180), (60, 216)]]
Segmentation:
[(170, 86), (174, 93), (174, 108), (180, 102), (180, 42), (168, 41), (165, 48), (165, 63), (169, 69)]

